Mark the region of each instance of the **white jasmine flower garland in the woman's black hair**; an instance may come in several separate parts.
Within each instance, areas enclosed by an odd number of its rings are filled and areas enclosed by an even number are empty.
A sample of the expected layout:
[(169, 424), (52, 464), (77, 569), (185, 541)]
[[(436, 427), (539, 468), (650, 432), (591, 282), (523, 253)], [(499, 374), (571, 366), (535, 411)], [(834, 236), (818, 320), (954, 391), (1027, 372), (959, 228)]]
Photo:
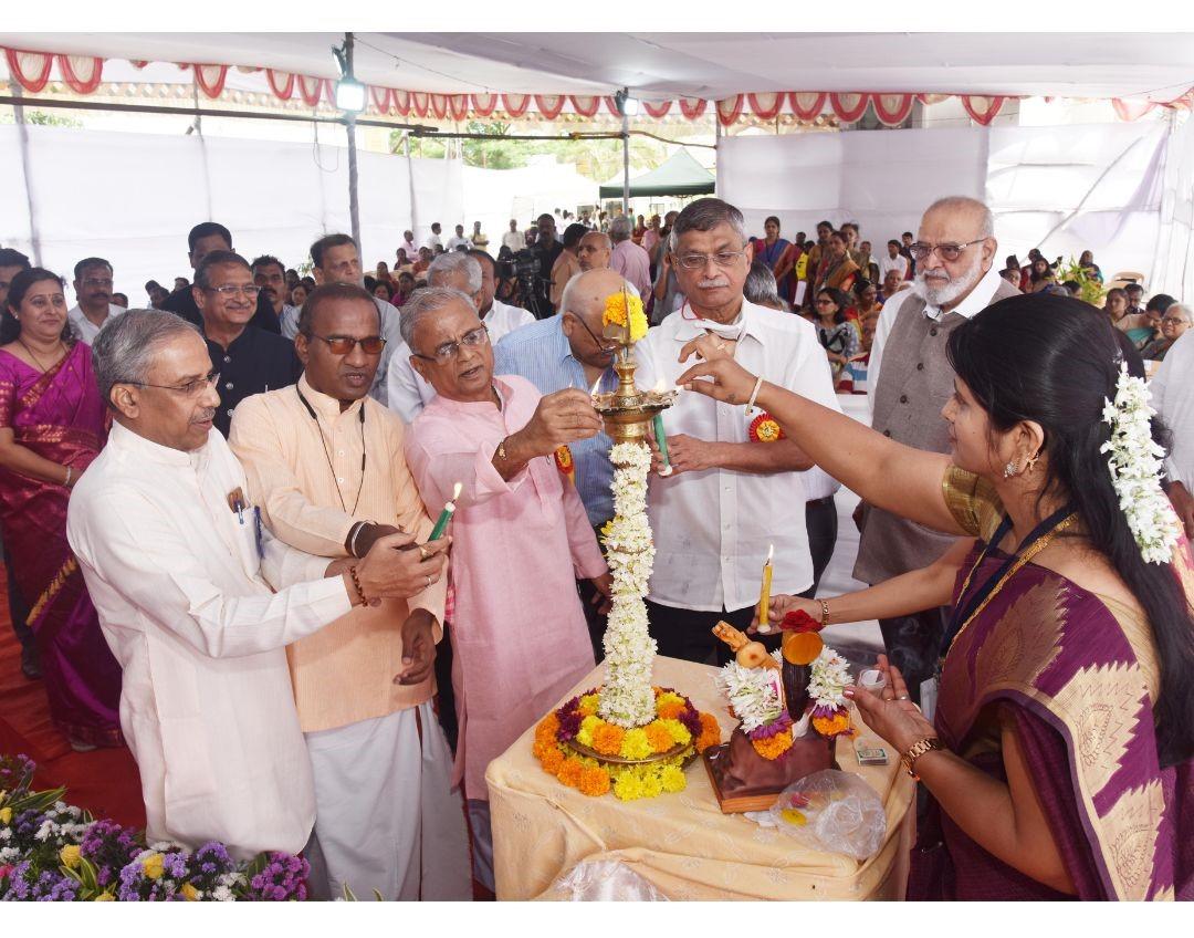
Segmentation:
[(1152, 439), (1149, 421), (1155, 412), (1144, 379), (1132, 378), (1127, 362), (1120, 362), (1115, 401), (1104, 399), (1103, 406), (1112, 439), (1100, 452), (1110, 453), (1112, 484), (1140, 556), (1145, 563), (1168, 564), (1177, 546), (1178, 522), (1161, 488), (1165, 450)]

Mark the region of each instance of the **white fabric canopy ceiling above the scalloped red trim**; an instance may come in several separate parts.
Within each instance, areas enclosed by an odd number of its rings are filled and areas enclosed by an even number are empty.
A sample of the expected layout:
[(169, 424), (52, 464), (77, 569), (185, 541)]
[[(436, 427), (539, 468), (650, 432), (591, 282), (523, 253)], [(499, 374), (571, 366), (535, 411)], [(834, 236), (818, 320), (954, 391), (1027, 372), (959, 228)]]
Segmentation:
[[(0, 45), (156, 62), (265, 67), (337, 78), (343, 36), (0, 33)], [(1168, 102), (1194, 79), (1186, 33), (534, 33), (358, 35), (356, 73), (442, 94), (719, 100), (749, 92), (919, 92)]]

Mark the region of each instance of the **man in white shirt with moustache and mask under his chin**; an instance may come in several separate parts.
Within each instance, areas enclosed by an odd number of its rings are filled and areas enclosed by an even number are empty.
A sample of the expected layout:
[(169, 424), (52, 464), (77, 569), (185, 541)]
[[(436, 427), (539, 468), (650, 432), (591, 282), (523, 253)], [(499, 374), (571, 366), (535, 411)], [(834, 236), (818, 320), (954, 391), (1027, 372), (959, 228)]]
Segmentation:
[[(638, 385), (675, 386), (689, 367), (678, 361), (681, 349), (709, 333), (743, 367), (838, 410), (813, 326), (743, 296), (752, 253), (733, 206), (701, 198), (679, 214), (670, 255), (688, 299), (635, 344)], [(812, 586), (807, 499), (798, 472), (812, 462), (790, 440), (752, 439), (757, 417), (685, 393), (664, 411), (672, 474), (652, 476), (647, 498), (657, 550), (647, 614), (661, 655), (704, 661), (720, 654), (710, 632), (719, 619), (743, 630), (750, 625), (769, 545), (775, 545), (775, 593)]]

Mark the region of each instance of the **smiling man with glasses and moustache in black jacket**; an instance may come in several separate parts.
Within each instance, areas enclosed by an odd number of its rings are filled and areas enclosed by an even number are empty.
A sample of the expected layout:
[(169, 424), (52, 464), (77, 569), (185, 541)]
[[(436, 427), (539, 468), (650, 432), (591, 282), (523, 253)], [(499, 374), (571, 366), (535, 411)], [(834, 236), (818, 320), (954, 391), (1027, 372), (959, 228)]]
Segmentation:
[(220, 375), (215, 425), (224, 436), (240, 401), (271, 387), (293, 385), (302, 374), (289, 339), (251, 325), (260, 293), (248, 262), (232, 251), (210, 252), (195, 270), (191, 295), (199, 309), (211, 368)]

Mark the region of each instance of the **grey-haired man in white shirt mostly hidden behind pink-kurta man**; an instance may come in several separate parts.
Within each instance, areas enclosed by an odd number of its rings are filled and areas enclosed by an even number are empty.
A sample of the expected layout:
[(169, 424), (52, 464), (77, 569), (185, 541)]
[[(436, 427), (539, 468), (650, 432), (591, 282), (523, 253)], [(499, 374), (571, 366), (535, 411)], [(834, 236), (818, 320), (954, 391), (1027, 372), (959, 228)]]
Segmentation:
[[(506, 306), (497, 299), (497, 280), (493, 258), (485, 251), (461, 253), (454, 251), (437, 257), (427, 268), (429, 287), (451, 287), (468, 294), (476, 307), (485, 327), (490, 331), (490, 343), (519, 326), (535, 321), (535, 317), (517, 306)], [(386, 375), (386, 399), (389, 409), (407, 424), (423, 412), (423, 407), (436, 396), (435, 388), (423, 379), (411, 364), (411, 349), (404, 342), (394, 351)]]

